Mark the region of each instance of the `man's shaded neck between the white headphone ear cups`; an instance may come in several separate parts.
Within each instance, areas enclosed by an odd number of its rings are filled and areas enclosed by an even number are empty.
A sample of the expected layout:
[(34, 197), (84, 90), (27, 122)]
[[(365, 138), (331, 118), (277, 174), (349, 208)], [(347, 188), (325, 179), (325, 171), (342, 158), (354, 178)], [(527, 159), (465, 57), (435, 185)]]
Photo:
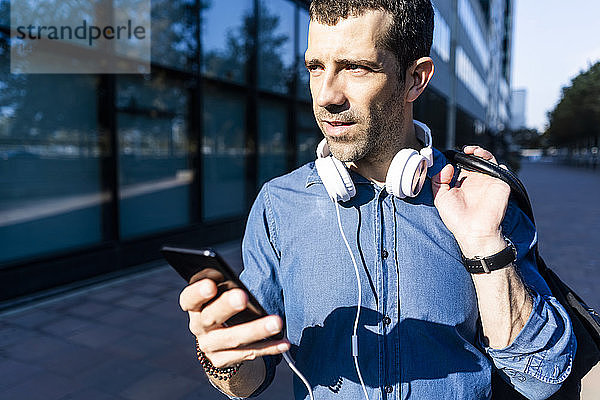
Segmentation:
[(423, 148), (423, 144), (417, 140), (415, 126), (412, 123), (412, 120), (410, 121), (410, 125), (406, 127), (405, 132), (406, 134), (403, 135), (405, 140), (398, 141), (399, 146), (394, 146), (394, 143), (390, 143), (388, 148), (382, 149), (378, 154), (365, 157), (358, 161), (348, 162), (346, 163), (346, 166), (371, 182), (374, 182), (379, 186), (385, 186), (387, 172), (394, 156), (402, 149), (410, 148), (420, 150)]

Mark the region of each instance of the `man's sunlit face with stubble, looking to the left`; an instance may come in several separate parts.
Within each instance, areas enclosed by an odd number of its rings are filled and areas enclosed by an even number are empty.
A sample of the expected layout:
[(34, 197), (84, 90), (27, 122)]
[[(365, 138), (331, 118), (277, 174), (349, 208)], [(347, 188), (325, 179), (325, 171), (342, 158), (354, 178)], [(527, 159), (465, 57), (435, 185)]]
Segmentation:
[(390, 22), (382, 11), (334, 26), (310, 22), (305, 61), (313, 111), (341, 161), (380, 160), (401, 140), (406, 116), (398, 62), (392, 52), (376, 47)]

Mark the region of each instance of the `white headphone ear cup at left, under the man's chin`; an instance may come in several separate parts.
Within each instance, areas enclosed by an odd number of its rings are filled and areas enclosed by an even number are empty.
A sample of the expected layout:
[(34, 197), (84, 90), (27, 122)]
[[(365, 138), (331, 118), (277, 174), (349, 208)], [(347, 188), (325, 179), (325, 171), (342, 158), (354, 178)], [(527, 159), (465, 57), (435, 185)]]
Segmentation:
[(315, 160), (317, 172), (333, 201), (348, 201), (356, 194), (354, 182), (344, 164), (331, 156)]

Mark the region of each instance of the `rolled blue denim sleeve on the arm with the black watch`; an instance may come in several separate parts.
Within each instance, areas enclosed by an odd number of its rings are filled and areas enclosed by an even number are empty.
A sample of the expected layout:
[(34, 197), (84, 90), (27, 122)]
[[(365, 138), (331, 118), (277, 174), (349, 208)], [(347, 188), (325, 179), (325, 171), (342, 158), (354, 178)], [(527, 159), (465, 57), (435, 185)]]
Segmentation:
[[(515, 340), (503, 349), (480, 345), (503, 379), (528, 399), (546, 399), (567, 379), (577, 343), (571, 320), (554, 298), (535, 263), (537, 235), (533, 224), (514, 205), (507, 209), (504, 232), (517, 246), (517, 269), (533, 300), (529, 318)], [(518, 243), (518, 244), (517, 244)]]

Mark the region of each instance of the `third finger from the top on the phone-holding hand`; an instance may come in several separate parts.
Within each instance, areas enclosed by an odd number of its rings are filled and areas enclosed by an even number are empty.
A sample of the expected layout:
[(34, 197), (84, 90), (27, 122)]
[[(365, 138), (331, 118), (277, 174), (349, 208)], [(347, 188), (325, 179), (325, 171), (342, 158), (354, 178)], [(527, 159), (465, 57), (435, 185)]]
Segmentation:
[(283, 328), (283, 321), (277, 315), (269, 315), (255, 321), (212, 330), (198, 337), (198, 344), (204, 352), (217, 352), (247, 346), (267, 339)]

